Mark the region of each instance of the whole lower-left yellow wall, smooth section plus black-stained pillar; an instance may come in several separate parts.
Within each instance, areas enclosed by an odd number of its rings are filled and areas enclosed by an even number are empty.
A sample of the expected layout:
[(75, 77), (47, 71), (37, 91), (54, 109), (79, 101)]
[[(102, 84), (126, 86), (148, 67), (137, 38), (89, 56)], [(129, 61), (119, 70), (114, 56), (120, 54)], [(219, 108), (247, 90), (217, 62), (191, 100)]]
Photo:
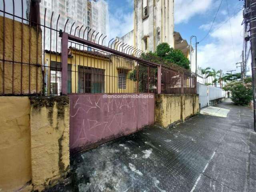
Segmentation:
[(68, 97), (0, 97), (0, 191), (43, 190), (69, 170)]

